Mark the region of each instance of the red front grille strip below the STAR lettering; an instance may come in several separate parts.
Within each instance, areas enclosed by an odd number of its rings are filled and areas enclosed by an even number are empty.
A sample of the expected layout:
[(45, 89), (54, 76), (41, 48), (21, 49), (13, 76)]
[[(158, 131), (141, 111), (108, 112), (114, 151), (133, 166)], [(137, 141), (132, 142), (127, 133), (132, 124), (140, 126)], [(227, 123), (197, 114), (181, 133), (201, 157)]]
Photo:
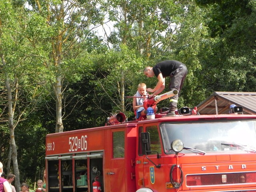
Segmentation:
[[(230, 185), (256, 183), (256, 172), (186, 175), (187, 186)], [(255, 191), (255, 190), (254, 190)], [(252, 191), (250, 191), (252, 192)]]

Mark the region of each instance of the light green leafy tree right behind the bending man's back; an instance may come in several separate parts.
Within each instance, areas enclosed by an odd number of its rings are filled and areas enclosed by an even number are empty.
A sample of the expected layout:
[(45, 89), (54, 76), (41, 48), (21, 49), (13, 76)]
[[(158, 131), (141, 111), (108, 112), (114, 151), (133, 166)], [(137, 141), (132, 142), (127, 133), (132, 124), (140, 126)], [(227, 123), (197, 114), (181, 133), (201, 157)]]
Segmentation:
[(175, 59), (186, 64), (188, 74), (182, 88), (178, 104), (194, 107), (204, 100), (205, 88), (202, 86), (200, 63), (201, 51), (204, 50), (208, 37), (207, 28), (204, 26), (205, 11), (194, 2), (182, 3), (183, 9), (172, 16), (175, 27), (170, 27), (162, 39), (161, 54), (156, 58)]

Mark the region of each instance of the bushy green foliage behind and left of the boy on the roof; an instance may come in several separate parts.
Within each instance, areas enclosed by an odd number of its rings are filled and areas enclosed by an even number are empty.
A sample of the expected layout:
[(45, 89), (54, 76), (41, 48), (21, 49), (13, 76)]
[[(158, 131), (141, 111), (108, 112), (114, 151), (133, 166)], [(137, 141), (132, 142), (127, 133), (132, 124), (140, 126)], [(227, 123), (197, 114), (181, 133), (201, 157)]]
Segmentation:
[[(131, 50), (122, 44), (117, 50), (109, 50), (105, 54), (98, 55), (94, 64), (97, 68), (96, 81), (94, 81), (95, 92), (98, 92), (93, 99), (94, 103), (99, 103), (104, 98), (106, 100), (104, 103), (110, 101), (112, 103), (112, 107), (105, 109), (106, 112), (108, 111), (107, 113), (121, 110), (121, 79), (124, 76), (125, 96), (133, 96), (136, 92), (134, 77), (139, 77), (142, 74), (143, 58), (136, 50)], [(136, 82), (135, 87), (137, 85)], [(125, 102), (126, 110), (131, 110), (130, 101), (125, 100)]]

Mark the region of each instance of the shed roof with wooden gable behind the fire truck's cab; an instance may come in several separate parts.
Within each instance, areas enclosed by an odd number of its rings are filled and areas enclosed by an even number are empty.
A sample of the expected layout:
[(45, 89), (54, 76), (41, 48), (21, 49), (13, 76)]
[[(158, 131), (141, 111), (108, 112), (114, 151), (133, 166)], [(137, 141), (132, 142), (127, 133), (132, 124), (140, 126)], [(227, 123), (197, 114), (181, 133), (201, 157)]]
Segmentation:
[(242, 106), (243, 114), (256, 114), (256, 92), (214, 92), (197, 105), (203, 114), (228, 114), (231, 104)]

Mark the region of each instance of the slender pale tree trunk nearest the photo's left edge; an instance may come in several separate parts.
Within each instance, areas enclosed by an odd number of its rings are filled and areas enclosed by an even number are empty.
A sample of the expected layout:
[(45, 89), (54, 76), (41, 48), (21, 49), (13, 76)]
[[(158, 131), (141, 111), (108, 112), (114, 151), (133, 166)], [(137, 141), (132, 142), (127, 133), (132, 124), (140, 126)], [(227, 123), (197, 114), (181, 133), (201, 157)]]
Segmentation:
[(3, 64), (3, 70), (5, 75), (5, 86), (8, 94), (8, 119), (9, 119), (9, 131), (10, 131), (10, 144), (12, 146), (12, 164), (14, 168), (14, 174), (15, 174), (15, 186), (16, 189), (20, 189), (20, 173), (18, 169), (18, 160), (17, 160), (17, 147), (15, 143), (14, 138), (14, 123), (13, 123), (13, 115), (14, 115), (14, 109), (12, 107), (12, 88), (10, 86), (9, 76), (8, 73), (5, 71), (6, 62), (4, 60), (4, 54), (2, 53), (2, 48), (0, 48), (0, 56)]

